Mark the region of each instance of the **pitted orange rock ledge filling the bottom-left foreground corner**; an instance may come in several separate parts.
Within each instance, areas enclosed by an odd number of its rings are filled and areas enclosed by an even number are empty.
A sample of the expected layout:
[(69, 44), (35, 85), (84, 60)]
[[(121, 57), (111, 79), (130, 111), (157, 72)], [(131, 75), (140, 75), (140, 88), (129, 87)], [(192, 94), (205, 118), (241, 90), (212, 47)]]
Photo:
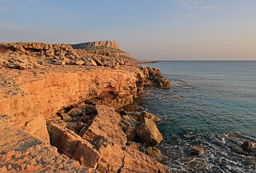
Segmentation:
[(91, 173), (56, 147), (18, 129), (7, 115), (0, 115), (0, 172)]

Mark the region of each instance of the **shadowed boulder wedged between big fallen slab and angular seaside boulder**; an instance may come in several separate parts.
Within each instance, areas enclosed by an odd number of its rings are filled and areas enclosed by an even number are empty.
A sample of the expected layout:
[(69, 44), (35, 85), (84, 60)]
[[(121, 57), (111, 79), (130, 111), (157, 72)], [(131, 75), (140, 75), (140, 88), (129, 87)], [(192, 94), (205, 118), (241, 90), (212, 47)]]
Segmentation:
[(136, 126), (139, 124), (131, 115), (123, 115), (119, 127), (126, 134), (127, 140), (133, 141), (136, 136)]

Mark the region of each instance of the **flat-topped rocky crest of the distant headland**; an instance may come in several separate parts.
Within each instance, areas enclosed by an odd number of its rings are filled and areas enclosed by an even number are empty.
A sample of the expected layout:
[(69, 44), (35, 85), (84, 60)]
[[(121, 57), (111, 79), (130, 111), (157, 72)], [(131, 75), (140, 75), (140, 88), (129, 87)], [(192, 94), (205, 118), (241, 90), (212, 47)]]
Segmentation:
[(95, 48), (95, 47), (99, 47), (99, 46), (106, 46), (109, 48), (119, 49), (117, 42), (113, 42), (113, 41), (86, 42), (86, 43), (72, 44), (71, 46), (74, 49)]

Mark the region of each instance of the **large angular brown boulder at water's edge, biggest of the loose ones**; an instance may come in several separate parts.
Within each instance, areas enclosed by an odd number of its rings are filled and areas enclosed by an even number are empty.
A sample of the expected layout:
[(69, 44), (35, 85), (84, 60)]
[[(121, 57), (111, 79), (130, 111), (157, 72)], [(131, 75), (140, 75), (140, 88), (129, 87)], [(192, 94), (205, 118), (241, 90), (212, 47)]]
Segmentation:
[(163, 136), (154, 121), (146, 117), (136, 127), (136, 133), (146, 143), (156, 144), (163, 140)]

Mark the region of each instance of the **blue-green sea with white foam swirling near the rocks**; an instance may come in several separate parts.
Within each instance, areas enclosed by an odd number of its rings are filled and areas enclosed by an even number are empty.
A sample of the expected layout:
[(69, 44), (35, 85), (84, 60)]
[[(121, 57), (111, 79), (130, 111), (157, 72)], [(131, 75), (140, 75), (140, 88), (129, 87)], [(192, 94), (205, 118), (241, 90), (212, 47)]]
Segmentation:
[[(126, 109), (148, 111), (164, 140), (156, 158), (173, 173), (256, 173), (256, 61), (160, 61), (170, 89), (147, 87)], [(252, 141), (250, 150), (242, 149)], [(149, 144), (136, 141), (143, 151)], [(194, 145), (205, 152), (190, 153)]]

